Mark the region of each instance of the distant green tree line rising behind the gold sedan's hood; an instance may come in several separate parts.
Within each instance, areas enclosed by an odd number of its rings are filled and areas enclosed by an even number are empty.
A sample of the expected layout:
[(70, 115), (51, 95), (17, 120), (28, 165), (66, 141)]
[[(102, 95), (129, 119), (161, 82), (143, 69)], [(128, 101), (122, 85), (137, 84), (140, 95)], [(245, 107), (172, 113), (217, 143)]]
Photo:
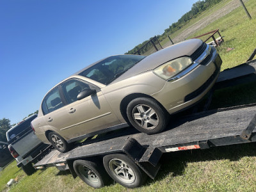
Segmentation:
[[(204, 1), (199, 0), (199, 1), (196, 1), (196, 3), (193, 4), (193, 6), (191, 7), (191, 10), (189, 12), (182, 15), (182, 17), (180, 17), (180, 19), (177, 22), (173, 22), (173, 24), (171, 26), (169, 26), (169, 28), (164, 29), (164, 33), (162, 35), (157, 35), (157, 39), (161, 42), (162, 40), (167, 38), (168, 35), (172, 35), (173, 33), (175, 33), (175, 31), (181, 29), (185, 24), (187, 24), (189, 22), (189, 20), (191, 20), (195, 17), (198, 17), (198, 15), (200, 15), (200, 13), (204, 12), (208, 8), (211, 8), (215, 4), (220, 3), (220, 1), (223, 1), (223, 0), (204, 0)], [(151, 40), (152, 38), (154, 38), (154, 37), (151, 37), (149, 40)], [(134, 54), (141, 47), (143, 47), (143, 45), (147, 44), (147, 42), (149, 40), (145, 40), (145, 42), (137, 45), (130, 51), (125, 52), (125, 54)], [(141, 53), (147, 52), (151, 48), (152, 48), (152, 45), (148, 44), (145, 47), (143, 47), (143, 50), (140, 50), (140, 52)]]

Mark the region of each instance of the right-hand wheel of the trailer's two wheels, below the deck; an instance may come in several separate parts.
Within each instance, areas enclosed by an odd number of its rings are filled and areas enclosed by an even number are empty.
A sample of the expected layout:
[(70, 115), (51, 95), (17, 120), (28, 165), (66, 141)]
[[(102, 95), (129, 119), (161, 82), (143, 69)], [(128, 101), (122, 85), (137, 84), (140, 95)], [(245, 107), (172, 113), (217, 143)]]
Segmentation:
[(147, 180), (147, 175), (123, 154), (104, 156), (103, 164), (109, 176), (126, 188), (138, 188)]

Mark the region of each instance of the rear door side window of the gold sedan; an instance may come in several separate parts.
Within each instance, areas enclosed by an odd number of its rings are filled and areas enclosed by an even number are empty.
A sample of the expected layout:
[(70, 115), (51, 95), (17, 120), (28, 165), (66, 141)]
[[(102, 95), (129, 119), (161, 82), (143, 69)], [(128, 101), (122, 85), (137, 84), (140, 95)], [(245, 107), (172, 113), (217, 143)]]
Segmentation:
[(50, 93), (48, 93), (42, 103), (42, 110), (44, 115), (51, 113), (57, 109), (60, 109), (64, 106), (58, 87), (54, 88)]

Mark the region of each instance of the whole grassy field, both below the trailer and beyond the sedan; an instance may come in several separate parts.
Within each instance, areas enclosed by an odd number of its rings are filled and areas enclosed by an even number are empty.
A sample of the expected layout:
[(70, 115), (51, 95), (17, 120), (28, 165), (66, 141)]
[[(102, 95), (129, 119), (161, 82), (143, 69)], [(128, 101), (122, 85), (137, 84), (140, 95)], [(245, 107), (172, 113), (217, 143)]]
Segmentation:
[[(245, 4), (252, 20), (247, 18), (240, 6), (189, 36), (220, 29), (221, 35), (225, 36), (225, 42), (219, 48), (222, 70), (244, 63), (256, 48), (256, 1), (249, 0)], [(218, 4), (211, 13), (220, 7)], [(205, 12), (203, 16), (211, 13)], [(191, 20), (190, 25), (203, 19), (203, 16)], [(177, 34), (182, 31), (177, 31)], [(228, 47), (234, 49), (227, 52)], [(253, 103), (256, 102), (255, 95), (255, 83), (218, 90), (214, 93), (211, 108)], [(10, 191), (256, 191), (255, 143), (165, 154), (161, 163), (156, 179), (148, 179), (141, 188), (126, 189), (113, 183), (102, 189), (92, 189), (81, 179), (73, 179), (70, 173), (56, 168), (38, 170), (26, 176), (14, 161), (0, 172), (0, 190), (6, 191), (8, 180), (15, 179), (17, 184)]]

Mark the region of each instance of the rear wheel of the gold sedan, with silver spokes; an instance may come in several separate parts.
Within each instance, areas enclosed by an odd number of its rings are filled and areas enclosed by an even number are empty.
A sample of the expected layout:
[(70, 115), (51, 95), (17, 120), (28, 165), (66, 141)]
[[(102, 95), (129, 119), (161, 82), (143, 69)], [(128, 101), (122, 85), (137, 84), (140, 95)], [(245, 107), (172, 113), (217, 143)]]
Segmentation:
[(60, 134), (56, 132), (50, 132), (48, 138), (52, 143), (52, 146), (58, 151), (65, 153), (70, 149), (70, 144), (68, 144), (67, 141), (60, 136)]

